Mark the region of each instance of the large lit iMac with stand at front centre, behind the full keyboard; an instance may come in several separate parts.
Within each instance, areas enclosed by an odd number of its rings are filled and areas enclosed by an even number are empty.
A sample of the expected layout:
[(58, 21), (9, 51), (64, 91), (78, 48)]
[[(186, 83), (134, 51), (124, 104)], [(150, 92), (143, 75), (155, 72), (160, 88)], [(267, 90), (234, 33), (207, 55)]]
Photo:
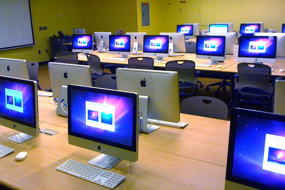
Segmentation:
[(68, 143), (102, 153), (89, 164), (138, 160), (137, 93), (68, 85), (67, 94)]

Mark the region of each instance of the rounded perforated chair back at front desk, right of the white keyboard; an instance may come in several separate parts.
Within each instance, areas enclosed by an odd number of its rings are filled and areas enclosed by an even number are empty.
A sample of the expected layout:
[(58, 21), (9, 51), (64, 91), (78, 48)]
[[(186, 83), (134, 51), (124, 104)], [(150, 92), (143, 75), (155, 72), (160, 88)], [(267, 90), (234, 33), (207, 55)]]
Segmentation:
[(180, 112), (203, 117), (227, 120), (227, 105), (216, 98), (194, 96), (181, 102)]

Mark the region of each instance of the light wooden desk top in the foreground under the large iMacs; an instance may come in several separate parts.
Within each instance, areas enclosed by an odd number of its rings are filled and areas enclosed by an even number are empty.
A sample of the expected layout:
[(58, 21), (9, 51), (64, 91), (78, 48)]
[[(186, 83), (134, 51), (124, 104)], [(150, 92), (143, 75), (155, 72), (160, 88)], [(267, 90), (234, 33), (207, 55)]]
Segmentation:
[[(0, 159), (0, 183), (15, 189), (107, 189), (55, 170), (67, 159), (87, 164), (99, 153), (69, 145), (62, 117), (48, 105), (49, 98), (38, 99), (39, 117), (44, 120), (40, 127), (60, 133), (40, 134), (22, 162), (16, 162), (15, 155), (28, 150), (31, 141), (14, 145), (15, 152)], [(56, 121), (58, 125), (49, 124)], [(224, 189), (229, 121), (186, 114), (181, 114), (181, 121), (189, 125), (184, 129), (162, 126), (139, 137), (139, 160), (123, 189)], [(0, 135), (10, 130), (0, 126)], [(8, 146), (8, 136), (0, 144)], [(126, 175), (121, 166), (110, 171)]]

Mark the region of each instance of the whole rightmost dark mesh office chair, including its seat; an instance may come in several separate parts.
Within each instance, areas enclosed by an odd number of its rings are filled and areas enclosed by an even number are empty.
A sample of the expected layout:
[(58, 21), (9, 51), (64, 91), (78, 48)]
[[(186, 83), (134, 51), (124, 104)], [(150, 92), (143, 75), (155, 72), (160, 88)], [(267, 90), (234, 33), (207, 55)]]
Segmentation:
[[(270, 85), (270, 66), (264, 64), (239, 63), (238, 77), (238, 83), (235, 84), (236, 104), (246, 102), (272, 106), (274, 87)], [(265, 99), (270, 99), (270, 101), (266, 103), (264, 102)]]

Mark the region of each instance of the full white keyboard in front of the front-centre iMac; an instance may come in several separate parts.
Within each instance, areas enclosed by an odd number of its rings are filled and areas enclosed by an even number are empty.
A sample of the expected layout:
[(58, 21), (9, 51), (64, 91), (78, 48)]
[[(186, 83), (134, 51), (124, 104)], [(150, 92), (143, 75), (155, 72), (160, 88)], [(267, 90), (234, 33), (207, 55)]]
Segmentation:
[(123, 175), (102, 170), (101, 168), (76, 162), (70, 159), (58, 166), (56, 170), (74, 175), (78, 178), (85, 179), (110, 189), (114, 189), (126, 178)]

